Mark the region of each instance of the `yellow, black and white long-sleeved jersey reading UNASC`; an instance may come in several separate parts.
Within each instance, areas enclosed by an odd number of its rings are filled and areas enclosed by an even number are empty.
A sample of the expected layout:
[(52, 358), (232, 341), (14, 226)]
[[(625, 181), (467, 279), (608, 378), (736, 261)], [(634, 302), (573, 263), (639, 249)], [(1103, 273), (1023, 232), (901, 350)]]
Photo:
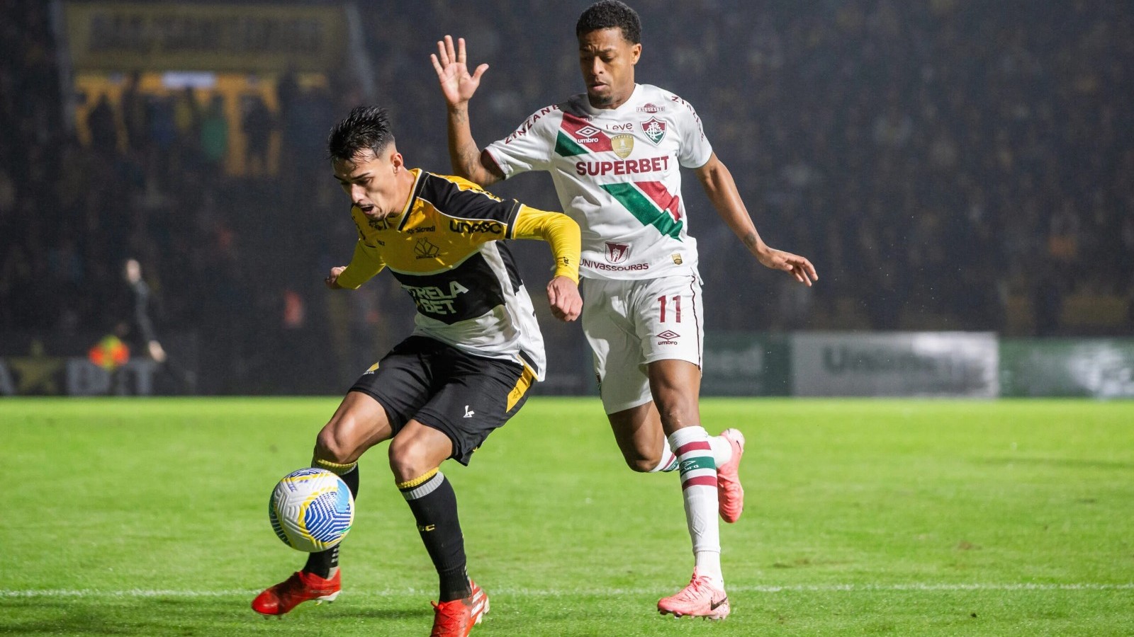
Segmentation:
[(502, 239), (547, 240), (556, 275), (578, 281), (578, 226), (459, 177), (412, 172), (413, 194), (401, 213), (374, 221), (352, 207), (358, 241), (339, 286), (355, 289), (389, 267), (417, 306), (414, 334), (516, 360), (542, 380), (543, 337)]

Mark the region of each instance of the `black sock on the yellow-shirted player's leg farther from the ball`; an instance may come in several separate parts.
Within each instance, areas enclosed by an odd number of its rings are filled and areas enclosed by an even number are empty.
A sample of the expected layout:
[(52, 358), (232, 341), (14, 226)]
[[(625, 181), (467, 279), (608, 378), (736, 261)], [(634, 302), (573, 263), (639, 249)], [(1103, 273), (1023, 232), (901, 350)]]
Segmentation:
[(465, 570), (465, 537), (457, 519), (457, 494), (441, 472), (401, 483), (398, 489), (406, 498), (417, 520), (417, 533), (433, 560), (441, 579), (439, 601), (451, 602), (473, 594)]

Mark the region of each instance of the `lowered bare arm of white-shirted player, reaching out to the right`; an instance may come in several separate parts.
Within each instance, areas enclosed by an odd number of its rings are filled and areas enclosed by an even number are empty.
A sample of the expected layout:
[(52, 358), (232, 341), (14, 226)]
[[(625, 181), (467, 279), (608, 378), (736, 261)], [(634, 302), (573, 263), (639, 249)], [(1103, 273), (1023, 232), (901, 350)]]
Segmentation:
[(744, 207), (744, 201), (741, 199), (741, 193), (736, 188), (733, 173), (717, 159), (717, 153), (713, 153), (709, 161), (695, 172), (697, 180), (701, 181), (701, 186), (709, 196), (709, 201), (717, 209), (717, 214), (733, 230), (733, 233), (741, 238), (748, 252), (761, 264), (772, 270), (788, 272), (795, 277), (796, 281), (806, 286), (819, 280), (815, 266), (806, 257), (770, 247), (760, 238), (760, 232), (756, 232), (748, 210)]

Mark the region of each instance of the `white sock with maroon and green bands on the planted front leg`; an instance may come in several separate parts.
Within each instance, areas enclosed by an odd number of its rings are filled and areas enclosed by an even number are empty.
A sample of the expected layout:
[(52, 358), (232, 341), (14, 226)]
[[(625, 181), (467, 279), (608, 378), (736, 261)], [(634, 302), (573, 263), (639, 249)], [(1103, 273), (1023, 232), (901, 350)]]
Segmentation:
[(677, 430), (669, 435), (669, 448), (679, 462), (685, 523), (693, 540), (697, 572), (709, 576), (720, 586), (720, 523), (717, 520), (717, 464), (712, 457), (709, 433), (704, 427)]

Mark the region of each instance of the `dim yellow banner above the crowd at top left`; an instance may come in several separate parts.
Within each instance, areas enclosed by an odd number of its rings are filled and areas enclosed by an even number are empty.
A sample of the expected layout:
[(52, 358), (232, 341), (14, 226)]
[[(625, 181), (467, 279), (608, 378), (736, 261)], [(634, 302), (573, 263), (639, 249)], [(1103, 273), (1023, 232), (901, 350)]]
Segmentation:
[(339, 7), (68, 2), (76, 70), (327, 70), (342, 60)]

